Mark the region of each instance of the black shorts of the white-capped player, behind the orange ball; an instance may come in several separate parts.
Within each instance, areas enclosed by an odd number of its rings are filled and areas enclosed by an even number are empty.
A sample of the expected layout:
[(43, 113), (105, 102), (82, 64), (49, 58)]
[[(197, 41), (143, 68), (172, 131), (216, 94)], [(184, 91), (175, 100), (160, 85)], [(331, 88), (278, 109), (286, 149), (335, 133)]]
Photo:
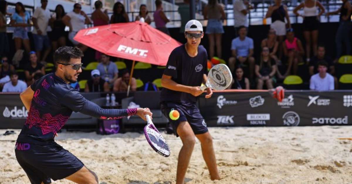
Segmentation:
[[(207, 124), (205, 123), (203, 116), (200, 114), (196, 104), (186, 105), (175, 102), (161, 102), (160, 107), (163, 114), (172, 124), (172, 129), (177, 137), (177, 127), (183, 121), (187, 121), (189, 123), (194, 134), (196, 135), (208, 132)], [(180, 113), (180, 117), (177, 120), (171, 120), (169, 116), (171, 110), (177, 110)]]

